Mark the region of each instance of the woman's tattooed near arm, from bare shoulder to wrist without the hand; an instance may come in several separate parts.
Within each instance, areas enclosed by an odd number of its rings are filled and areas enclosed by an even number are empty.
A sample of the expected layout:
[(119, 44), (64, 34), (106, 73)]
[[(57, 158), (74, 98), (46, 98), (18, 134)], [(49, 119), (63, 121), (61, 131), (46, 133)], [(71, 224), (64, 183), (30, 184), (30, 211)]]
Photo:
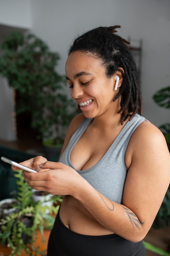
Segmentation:
[(144, 122), (134, 132), (125, 158), (129, 170), (122, 205), (111, 202), (86, 182), (79, 185), (74, 197), (101, 225), (137, 242), (148, 233), (168, 189), (170, 154), (162, 133)]

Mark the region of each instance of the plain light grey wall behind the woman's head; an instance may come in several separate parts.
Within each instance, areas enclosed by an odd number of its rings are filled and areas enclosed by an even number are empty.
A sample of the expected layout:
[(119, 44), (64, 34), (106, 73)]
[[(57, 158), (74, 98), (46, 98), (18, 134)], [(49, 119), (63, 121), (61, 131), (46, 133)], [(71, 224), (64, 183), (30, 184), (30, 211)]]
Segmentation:
[(170, 121), (170, 111), (152, 99), (155, 91), (170, 85), (169, 0), (32, 0), (32, 18), (32, 31), (60, 53), (62, 74), (68, 47), (83, 31), (121, 25), (120, 36), (143, 39), (143, 115), (156, 126)]

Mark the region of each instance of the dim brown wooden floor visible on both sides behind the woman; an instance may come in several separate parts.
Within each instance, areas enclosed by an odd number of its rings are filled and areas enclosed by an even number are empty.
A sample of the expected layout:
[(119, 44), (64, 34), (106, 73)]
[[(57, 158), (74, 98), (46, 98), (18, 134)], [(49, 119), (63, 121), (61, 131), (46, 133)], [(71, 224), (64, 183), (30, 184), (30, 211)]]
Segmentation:
[[(29, 131), (25, 131), (25, 134), (21, 134), (18, 140), (14, 142), (0, 140), (0, 145), (26, 152), (34, 152), (37, 153), (37, 155), (43, 152), (41, 142), (37, 141), (35, 139), (35, 136), (32, 136), (31, 132)], [(166, 227), (165, 229), (159, 230), (150, 229), (144, 240), (166, 251), (168, 249), (168, 244), (170, 241), (170, 227)], [(159, 254), (146, 250), (146, 256), (158, 255)]]

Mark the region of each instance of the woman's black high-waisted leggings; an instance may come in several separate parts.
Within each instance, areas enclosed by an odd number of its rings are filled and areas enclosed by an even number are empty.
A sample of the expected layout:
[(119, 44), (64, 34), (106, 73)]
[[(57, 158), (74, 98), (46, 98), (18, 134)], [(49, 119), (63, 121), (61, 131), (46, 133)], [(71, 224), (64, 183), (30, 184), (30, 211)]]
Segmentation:
[(146, 256), (143, 242), (132, 243), (116, 234), (86, 236), (63, 225), (57, 214), (47, 256)]

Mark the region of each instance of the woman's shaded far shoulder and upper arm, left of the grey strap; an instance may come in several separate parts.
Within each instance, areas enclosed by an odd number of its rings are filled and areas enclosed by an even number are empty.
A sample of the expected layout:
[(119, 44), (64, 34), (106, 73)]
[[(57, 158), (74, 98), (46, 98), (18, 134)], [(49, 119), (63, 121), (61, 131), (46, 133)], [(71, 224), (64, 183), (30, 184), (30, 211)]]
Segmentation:
[(70, 138), (72, 137), (72, 135), (74, 134), (74, 132), (77, 130), (78, 126), (82, 123), (82, 121), (84, 119), (85, 119), (85, 116), (83, 115), (83, 113), (76, 115), (72, 119), (70, 126), (68, 127), (68, 131), (65, 135), (65, 141), (63, 144), (63, 148), (61, 150), (61, 155), (62, 155), (63, 151), (65, 150), (65, 148), (67, 147), (68, 142), (70, 141)]

